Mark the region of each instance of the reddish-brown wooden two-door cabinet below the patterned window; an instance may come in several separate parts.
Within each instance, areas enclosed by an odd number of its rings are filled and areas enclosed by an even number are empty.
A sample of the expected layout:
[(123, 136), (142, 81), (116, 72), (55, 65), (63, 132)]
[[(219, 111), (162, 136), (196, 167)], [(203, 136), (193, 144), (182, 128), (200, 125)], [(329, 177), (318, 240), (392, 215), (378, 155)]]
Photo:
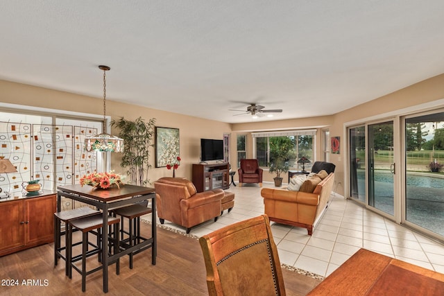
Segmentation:
[(51, 243), (56, 194), (0, 202), (0, 256)]

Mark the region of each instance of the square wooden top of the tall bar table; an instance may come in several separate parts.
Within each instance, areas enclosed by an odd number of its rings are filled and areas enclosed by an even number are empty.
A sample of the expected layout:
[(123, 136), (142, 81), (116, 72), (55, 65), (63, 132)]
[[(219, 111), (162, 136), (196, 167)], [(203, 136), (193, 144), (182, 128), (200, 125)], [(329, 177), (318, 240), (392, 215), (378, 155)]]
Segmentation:
[(92, 186), (81, 186), (80, 184), (58, 186), (57, 189), (67, 193), (82, 195), (86, 198), (101, 200), (103, 202), (119, 200), (121, 198), (130, 198), (135, 195), (146, 195), (148, 193), (155, 192), (155, 189), (151, 187), (128, 184), (120, 186), (120, 188), (111, 189), (96, 189)]

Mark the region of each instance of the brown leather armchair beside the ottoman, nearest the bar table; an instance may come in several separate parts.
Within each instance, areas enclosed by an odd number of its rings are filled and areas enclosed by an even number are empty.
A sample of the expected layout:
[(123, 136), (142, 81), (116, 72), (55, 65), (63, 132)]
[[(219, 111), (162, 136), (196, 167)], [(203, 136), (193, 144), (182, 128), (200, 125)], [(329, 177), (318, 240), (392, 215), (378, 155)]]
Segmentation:
[(194, 184), (184, 178), (162, 177), (154, 182), (157, 216), (160, 223), (169, 220), (187, 228), (221, 215), (222, 189), (198, 193)]

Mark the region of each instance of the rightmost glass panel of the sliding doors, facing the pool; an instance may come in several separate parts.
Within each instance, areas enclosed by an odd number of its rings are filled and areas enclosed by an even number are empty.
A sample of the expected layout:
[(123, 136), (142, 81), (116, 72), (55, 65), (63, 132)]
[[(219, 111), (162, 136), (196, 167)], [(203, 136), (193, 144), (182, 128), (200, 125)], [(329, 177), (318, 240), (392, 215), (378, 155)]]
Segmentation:
[(444, 236), (444, 112), (405, 119), (405, 220)]

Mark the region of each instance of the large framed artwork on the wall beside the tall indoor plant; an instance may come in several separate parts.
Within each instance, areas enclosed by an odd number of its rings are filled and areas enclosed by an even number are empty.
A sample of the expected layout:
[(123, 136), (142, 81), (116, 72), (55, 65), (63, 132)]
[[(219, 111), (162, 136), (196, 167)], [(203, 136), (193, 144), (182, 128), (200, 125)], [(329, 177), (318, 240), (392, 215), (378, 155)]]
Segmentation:
[(155, 167), (163, 168), (180, 156), (180, 133), (178, 128), (155, 127)]

